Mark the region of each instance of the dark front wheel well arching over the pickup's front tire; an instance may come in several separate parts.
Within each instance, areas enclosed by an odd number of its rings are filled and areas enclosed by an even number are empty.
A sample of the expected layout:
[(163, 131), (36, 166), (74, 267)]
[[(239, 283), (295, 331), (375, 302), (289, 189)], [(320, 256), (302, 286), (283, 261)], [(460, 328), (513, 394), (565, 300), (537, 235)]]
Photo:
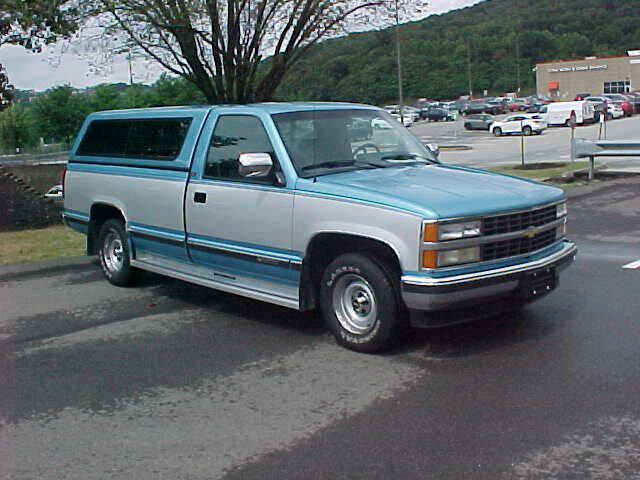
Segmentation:
[(387, 272), (399, 295), (402, 269), (394, 250), (386, 243), (367, 237), (343, 233), (321, 233), (316, 235), (302, 262), (300, 275), (300, 307), (302, 310), (315, 308), (318, 288), (327, 266), (345, 253), (369, 255)]

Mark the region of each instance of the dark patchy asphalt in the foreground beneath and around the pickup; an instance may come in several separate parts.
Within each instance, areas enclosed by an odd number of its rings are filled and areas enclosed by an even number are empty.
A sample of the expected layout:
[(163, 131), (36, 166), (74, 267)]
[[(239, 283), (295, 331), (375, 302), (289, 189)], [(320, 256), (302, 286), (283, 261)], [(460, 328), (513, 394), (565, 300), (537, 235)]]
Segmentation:
[(639, 225), (640, 179), (574, 190), (556, 292), (381, 356), (179, 281), (4, 267), (0, 477), (639, 479)]

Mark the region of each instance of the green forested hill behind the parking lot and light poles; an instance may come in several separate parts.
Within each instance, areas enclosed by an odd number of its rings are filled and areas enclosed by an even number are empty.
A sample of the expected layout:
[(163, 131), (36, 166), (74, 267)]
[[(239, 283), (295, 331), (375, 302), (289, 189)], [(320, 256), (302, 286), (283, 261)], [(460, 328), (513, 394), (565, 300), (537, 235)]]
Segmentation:
[[(536, 62), (640, 49), (640, 0), (486, 0), (404, 25), (409, 98), (456, 98), (474, 92), (533, 91)], [(520, 56), (519, 62), (518, 52)], [(395, 99), (394, 31), (324, 42), (289, 73), (283, 100)]]

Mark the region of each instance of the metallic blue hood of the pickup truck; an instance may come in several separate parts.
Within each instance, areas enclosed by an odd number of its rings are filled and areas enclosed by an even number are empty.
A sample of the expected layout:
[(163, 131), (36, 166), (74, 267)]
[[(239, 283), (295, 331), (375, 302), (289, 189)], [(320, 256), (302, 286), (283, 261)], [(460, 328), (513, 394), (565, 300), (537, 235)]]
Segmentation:
[(447, 165), (411, 165), (301, 179), (298, 189), (397, 208), (425, 219), (480, 216), (562, 200), (538, 182)]

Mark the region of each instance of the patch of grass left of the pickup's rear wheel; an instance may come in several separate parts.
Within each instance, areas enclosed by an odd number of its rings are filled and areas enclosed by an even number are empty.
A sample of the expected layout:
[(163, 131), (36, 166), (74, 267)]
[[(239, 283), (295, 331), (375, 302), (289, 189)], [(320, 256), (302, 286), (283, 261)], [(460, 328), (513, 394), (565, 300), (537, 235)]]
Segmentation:
[(85, 236), (62, 225), (0, 233), (0, 265), (84, 255)]

